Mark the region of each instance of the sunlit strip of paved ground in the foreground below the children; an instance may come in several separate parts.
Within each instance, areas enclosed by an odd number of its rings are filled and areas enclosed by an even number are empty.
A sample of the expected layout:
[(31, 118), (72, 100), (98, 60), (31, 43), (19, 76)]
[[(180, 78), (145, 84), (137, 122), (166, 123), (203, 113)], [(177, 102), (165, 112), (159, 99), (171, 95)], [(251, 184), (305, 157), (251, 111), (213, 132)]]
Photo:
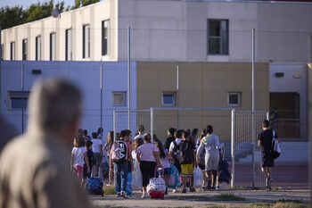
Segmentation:
[[(234, 194), (241, 196), (243, 201), (218, 201), (214, 196), (220, 194)], [(141, 199), (141, 194), (134, 193), (134, 196), (123, 199), (116, 196), (90, 196), (94, 207), (207, 207), (208, 205), (225, 205), (226, 207), (242, 207), (250, 203), (275, 203), (280, 199), (301, 200), (308, 203), (308, 189), (287, 189), (267, 192), (265, 190), (218, 190), (213, 192), (196, 192), (182, 194), (169, 193), (165, 200)]]

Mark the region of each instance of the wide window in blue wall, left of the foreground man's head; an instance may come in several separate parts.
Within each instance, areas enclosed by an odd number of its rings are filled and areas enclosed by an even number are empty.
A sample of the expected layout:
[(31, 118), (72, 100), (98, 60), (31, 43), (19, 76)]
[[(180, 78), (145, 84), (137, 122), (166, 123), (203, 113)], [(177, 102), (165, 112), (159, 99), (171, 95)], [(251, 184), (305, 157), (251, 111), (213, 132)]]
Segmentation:
[(9, 109), (27, 109), (29, 92), (11, 91), (8, 92)]

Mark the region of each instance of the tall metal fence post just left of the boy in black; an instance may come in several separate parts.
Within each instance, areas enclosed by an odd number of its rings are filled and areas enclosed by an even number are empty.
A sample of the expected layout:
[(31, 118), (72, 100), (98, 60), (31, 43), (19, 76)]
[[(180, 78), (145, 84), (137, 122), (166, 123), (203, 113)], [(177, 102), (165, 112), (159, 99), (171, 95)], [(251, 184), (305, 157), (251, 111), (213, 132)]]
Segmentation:
[(255, 29), (252, 29), (252, 86), (251, 86), (251, 139), (252, 139), (252, 187), (255, 187), (256, 178), (256, 137), (255, 137)]

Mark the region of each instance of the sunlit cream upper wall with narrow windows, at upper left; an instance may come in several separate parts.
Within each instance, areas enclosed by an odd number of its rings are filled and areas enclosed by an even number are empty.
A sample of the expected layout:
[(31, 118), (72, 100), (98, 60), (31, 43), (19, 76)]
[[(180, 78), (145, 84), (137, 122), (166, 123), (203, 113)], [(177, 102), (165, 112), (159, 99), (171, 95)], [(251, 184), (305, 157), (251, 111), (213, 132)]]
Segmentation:
[[(110, 52), (102, 56), (102, 21), (110, 21)], [(90, 25), (90, 58), (82, 58), (82, 27)], [(28, 60), (36, 60), (36, 37), (42, 37), (42, 60), (50, 60), (50, 33), (56, 34), (56, 60), (65, 61), (65, 31), (72, 29), (72, 60), (107, 61), (117, 60), (118, 0), (105, 0), (70, 12), (62, 12), (59, 17), (48, 17), (2, 31), (4, 60), (10, 60), (10, 43), (15, 41), (16, 59), (21, 60), (21, 40), (28, 38)]]

